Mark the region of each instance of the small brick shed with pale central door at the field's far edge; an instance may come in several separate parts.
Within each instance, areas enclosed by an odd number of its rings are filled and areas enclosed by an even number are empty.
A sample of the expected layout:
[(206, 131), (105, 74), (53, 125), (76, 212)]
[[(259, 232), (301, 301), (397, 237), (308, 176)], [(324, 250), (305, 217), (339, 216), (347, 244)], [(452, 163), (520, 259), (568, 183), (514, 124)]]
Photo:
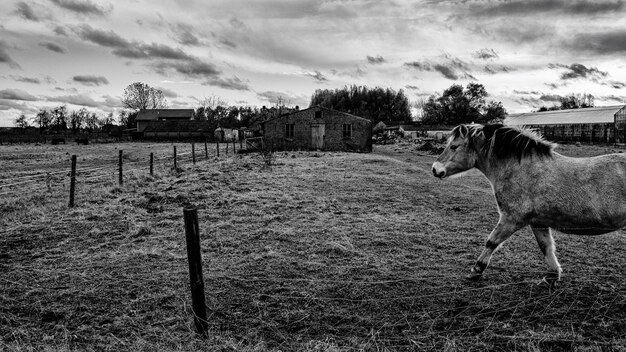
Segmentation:
[(372, 151), (372, 122), (313, 106), (262, 123), (265, 143), (274, 148)]

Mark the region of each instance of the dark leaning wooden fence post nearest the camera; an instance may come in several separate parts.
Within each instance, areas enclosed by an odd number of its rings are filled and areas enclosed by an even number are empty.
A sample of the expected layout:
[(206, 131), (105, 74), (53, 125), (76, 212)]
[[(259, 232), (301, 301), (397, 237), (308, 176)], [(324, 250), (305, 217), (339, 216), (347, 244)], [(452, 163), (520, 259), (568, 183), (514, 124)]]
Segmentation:
[(191, 283), (193, 320), (198, 333), (205, 335), (209, 324), (206, 317), (206, 303), (204, 300), (198, 208), (195, 206), (185, 207), (183, 209), (183, 215), (185, 218), (185, 238), (187, 240), (187, 259), (189, 260), (189, 281)]

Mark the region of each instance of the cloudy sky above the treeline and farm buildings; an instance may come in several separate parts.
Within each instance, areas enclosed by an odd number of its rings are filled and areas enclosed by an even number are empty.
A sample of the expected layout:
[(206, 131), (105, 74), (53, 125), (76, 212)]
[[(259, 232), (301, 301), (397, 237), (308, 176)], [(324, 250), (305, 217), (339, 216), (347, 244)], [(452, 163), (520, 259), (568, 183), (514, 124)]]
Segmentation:
[(572, 93), (626, 104), (626, 0), (0, 2), (0, 126), (63, 104), (117, 115), (137, 81), (172, 108), (469, 82), (510, 113)]

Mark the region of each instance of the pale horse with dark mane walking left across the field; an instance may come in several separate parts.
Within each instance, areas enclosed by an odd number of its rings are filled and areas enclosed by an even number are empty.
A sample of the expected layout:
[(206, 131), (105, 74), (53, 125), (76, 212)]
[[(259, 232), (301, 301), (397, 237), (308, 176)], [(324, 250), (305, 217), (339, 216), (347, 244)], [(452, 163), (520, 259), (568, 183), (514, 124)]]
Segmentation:
[(530, 226), (549, 271), (561, 280), (553, 231), (601, 235), (626, 227), (626, 155), (572, 158), (523, 127), (459, 125), (432, 165), (444, 179), (478, 169), (489, 180), (500, 215), (468, 279), (479, 279), (493, 253), (517, 230)]

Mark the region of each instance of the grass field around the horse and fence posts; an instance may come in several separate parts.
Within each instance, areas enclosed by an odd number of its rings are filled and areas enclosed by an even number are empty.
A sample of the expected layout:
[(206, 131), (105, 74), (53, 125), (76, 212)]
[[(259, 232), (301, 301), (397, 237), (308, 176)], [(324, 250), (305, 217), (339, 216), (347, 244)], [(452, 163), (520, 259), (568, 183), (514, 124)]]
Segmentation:
[[(171, 144), (0, 146), (0, 350), (626, 350), (621, 232), (558, 235), (553, 290), (537, 285), (546, 267), (528, 229), (468, 282), (497, 222), (478, 172), (435, 179), (434, 157), (410, 144), (278, 152), (271, 165), (214, 145), (195, 165), (189, 145), (178, 152), (173, 170)], [(190, 314), (190, 204), (206, 338)]]

